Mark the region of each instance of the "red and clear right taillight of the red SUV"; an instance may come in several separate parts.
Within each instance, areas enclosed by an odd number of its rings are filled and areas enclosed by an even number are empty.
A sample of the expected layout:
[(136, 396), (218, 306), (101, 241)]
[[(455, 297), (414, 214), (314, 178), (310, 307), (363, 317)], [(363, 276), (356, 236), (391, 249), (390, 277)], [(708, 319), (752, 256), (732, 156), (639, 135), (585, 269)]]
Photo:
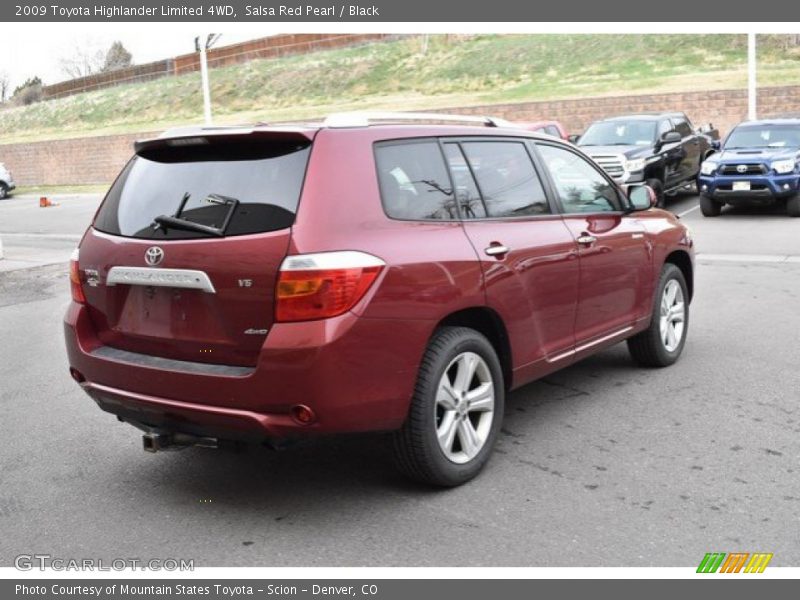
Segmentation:
[(386, 265), (352, 250), (287, 256), (278, 274), (276, 321), (312, 321), (347, 312)]

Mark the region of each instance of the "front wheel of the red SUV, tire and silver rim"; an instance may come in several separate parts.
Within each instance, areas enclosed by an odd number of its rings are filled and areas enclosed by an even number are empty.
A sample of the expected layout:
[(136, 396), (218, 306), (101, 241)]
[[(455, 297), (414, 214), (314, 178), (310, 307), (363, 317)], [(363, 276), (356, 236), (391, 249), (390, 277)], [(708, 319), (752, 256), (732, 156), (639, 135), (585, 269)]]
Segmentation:
[[(680, 312), (675, 308), (681, 304)], [(672, 313), (665, 313), (670, 305)], [(680, 327), (679, 327), (680, 325)], [(671, 334), (670, 336), (670, 329)], [(656, 286), (650, 326), (628, 340), (628, 350), (643, 367), (668, 367), (683, 351), (689, 331), (689, 293), (681, 270), (667, 263)]]

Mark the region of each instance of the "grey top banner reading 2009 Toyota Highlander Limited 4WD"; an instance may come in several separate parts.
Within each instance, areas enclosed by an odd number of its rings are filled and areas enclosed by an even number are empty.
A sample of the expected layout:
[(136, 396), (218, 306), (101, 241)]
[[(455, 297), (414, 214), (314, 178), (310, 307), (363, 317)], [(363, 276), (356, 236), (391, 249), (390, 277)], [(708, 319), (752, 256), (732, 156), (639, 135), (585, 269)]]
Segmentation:
[[(800, 3), (760, 0), (3, 0), (0, 21), (258, 22), (774, 22), (800, 21)], [(635, 32), (631, 32), (635, 33)]]

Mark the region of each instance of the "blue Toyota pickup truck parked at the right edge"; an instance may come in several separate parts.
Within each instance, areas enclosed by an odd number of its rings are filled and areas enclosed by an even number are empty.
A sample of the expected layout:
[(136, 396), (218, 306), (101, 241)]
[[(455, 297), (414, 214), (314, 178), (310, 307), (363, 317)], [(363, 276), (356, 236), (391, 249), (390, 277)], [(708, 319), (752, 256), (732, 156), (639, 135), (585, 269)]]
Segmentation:
[(740, 123), (721, 152), (703, 163), (698, 185), (700, 209), (716, 217), (725, 204), (773, 204), (800, 217), (800, 119)]

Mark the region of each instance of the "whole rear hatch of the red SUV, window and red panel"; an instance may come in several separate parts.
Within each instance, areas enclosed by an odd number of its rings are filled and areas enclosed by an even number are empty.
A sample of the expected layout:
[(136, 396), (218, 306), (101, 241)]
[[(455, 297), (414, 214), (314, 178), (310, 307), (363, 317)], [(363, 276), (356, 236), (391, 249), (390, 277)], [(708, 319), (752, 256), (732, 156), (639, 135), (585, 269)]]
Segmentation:
[(79, 251), (100, 341), (254, 366), (272, 326), (313, 133), (256, 130), (137, 145)]

